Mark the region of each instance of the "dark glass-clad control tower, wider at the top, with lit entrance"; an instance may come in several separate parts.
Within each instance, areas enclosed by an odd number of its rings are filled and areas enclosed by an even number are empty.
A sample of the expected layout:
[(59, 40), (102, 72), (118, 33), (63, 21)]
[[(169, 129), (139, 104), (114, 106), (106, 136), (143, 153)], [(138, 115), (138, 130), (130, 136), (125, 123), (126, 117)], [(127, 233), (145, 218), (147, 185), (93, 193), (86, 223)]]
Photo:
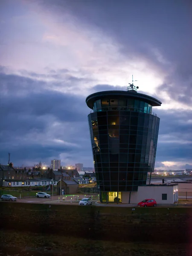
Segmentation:
[(154, 171), (160, 119), (152, 107), (161, 102), (129, 87), (93, 93), (86, 103), (100, 200), (121, 202)]

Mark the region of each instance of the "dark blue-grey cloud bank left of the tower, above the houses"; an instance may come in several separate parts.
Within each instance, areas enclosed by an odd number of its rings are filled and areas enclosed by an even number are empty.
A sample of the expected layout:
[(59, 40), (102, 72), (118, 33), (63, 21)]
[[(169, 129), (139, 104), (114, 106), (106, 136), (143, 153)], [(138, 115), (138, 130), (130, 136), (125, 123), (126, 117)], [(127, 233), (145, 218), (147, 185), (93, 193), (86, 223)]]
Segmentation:
[(0, 81), (0, 163), (6, 163), (6, 151), (17, 164), (65, 152), (68, 158), (90, 154), (92, 159), (84, 97), (46, 90), (46, 82), (22, 76), (1, 73)]

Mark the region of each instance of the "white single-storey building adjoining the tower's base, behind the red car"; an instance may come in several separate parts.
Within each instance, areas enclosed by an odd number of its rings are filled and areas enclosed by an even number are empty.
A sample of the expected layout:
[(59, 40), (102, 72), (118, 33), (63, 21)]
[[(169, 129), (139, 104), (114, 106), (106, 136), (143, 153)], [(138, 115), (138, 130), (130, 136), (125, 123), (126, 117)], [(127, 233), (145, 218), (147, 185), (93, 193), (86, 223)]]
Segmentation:
[(144, 199), (154, 199), (157, 204), (174, 204), (178, 201), (178, 184), (138, 186), (135, 192), (121, 192), (122, 203), (137, 204)]

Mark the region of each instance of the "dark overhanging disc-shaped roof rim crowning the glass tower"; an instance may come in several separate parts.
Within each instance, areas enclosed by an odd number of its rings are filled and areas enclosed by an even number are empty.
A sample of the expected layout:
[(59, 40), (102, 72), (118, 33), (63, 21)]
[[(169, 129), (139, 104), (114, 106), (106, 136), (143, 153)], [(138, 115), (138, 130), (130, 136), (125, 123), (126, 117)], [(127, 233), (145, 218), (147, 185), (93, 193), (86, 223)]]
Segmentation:
[(160, 102), (158, 99), (155, 99), (143, 93), (136, 93), (132, 91), (119, 91), (119, 90), (102, 91), (102, 92), (90, 94), (86, 98), (86, 103), (89, 108), (93, 109), (93, 104), (96, 100), (103, 99), (103, 98), (106, 99), (111, 97), (116, 99), (122, 99), (122, 98), (140, 99), (140, 100), (143, 100), (144, 102), (149, 103), (153, 107), (160, 106), (162, 104), (162, 102)]

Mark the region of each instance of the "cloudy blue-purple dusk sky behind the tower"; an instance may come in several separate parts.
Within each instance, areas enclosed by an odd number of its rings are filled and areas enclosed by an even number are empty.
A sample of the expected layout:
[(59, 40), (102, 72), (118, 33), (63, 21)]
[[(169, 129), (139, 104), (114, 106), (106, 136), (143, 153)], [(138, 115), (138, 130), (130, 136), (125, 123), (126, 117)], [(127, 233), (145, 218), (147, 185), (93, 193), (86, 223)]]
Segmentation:
[(1, 0), (0, 163), (93, 167), (86, 97), (161, 107), (156, 169), (192, 168), (191, 0)]

